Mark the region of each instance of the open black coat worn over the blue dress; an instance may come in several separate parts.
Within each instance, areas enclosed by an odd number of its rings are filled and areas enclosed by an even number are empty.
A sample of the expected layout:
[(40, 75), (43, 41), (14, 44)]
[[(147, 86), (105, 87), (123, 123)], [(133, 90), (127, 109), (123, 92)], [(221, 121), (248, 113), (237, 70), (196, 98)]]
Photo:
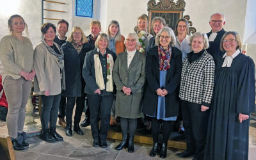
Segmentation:
[[(182, 68), (181, 51), (176, 47), (172, 47), (172, 55), (170, 60), (170, 68), (166, 74), (166, 87), (168, 95), (165, 99), (165, 117), (179, 115), (179, 84)], [(143, 113), (154, 116), (157, 110), (158, 95), (156, 90), (160, 88), (160, 70), (158, 46), (153, 47), (147, 53), (146, 58), (146, 77), (148, 85), (143, 100)]]

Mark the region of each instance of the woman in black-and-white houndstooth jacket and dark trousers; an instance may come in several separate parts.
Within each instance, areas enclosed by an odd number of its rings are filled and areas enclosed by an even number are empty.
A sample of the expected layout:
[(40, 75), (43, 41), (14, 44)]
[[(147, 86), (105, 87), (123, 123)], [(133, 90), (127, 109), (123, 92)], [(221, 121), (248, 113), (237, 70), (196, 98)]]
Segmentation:
[(178, 157), (204, 157), (205, 137), (212, 100), (215, 64), (205, 51), (209, 47), (207, 35), (196, 32), (190, 37), (192, 51), (183, 61), (180, 93), (183, 125), (187, 148)]

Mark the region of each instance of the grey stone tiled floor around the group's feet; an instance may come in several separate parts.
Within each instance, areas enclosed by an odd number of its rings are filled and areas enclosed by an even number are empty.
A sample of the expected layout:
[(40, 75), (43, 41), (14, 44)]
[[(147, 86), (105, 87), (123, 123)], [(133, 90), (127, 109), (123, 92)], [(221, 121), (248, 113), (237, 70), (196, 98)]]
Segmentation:
[[(57, 132), (63, 136), (64, 141), (57, 143), (46, 143), (40, 140), (38, 136), (28, 138), (29, 147), (24, 151), (16, 151), (17, 160), (66, 160), (66, 159), (160, 159), (158, 156), (150, 157), (148, 153), (151, 147), (135, 145), (135, 152), (129, 153), (127, 149), (120, 151), (115, 150), (118, 142), (108, 141), (108, 148), (92, 147), (92, 134), (90, 127), (81, 128), (84, 131), (83, 136), (79, 136), (74, 132), (72, 137), (65, 135), (65, 131), (60, 125), (57, 125)], [(6, 123), (0, 120), (0, 132), (6, 132)], [(176, 152), (168, 150), (166, 159), (180, 159), (175, 157)], [(187, 159), (192, 159), (187, 158)], [(256, 120), (251, 120), (250, 127), (250, 144), (249, 159), (256, 159)]]

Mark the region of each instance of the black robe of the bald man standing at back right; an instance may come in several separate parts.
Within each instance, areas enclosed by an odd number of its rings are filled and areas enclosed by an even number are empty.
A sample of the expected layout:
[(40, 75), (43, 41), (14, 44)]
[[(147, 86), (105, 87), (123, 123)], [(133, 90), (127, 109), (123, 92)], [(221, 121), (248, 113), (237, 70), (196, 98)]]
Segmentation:
[[(222, 28), (217, 33), (218, 34), (217, 34), (216, 38), (214, 39), (214, 41), (209, 42), (210, 46), (208, 49), (206, 49), (206, 51), (212, 55), (212, 58), (215, 63), (220, 58), (220, 56), (223, 56), (223, 54), (224, 54), (224, 52), (220, 51), (220, 41), (221, 41), (222, 36), (226, 33), (226, 31)], [(211, 34), (212, 34), (212, 31), (207, 33), (208, 38)]]

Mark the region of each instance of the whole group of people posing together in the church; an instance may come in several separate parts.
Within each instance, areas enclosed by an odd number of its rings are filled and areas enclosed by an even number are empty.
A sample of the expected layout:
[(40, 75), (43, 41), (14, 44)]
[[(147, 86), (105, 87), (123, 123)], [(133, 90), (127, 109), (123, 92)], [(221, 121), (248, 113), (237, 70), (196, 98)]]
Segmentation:
[[(137, 118), (152, 124), (153, 147), (149, 155), (167, 156), (170, 132), (182, 120), (187, 148), (176, 154), (193, 159), (248, 159), (250, 113), (255, 111), (255, 66), (241, 54), (241, 38), (226, 32), (225, 15), (210, 17), (211, 32), (189, 35), (186, 19), (175, 30), (161, 17), (154, 17), (148, 33), (147, 16), (138, 18), (136, 33), (122, 36), (111, 20), (107, 33), (100, 33), (98, 20), (90, 24), (91, 35), (60, 20), (41, 26), (42, 42), (35, 50), (28, 26), (20, 15), (8, 20), (11, 35), (0, 42), (3, 87), (8, 100), (8, 133), (15, 150), (24, 150), (25, 106), (34, 79), (34, 92), (42, 97), (41, 138), (62, 141), (56, 122), (72, 136), (79, 127), (85, 99), (88, 108), (81, 123), (91, 125), (93, 147), (108, 147), (109, 122), (120, 117), (122, 141), (115, 149), (134, 152)], [(56, 32), (58, 31), (58, 35)], [(60, 109), (60, 114), (58, 111)], [(64, 117), (66, 116), (66, 122)], [(100, 120), (100, 126), (99, 126)], [(111, 122), (112, 121), (112, 122)], [(163, 140), (159, 134), (163, 132)]]

